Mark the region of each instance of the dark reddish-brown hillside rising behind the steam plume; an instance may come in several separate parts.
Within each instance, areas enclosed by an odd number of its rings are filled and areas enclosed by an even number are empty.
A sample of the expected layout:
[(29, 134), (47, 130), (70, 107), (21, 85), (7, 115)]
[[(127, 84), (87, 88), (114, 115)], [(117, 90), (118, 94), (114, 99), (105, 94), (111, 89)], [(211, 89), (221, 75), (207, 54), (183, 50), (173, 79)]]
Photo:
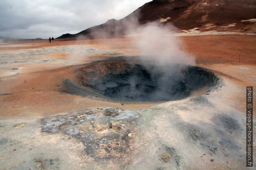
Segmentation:
[[(253, 0), (153, 0), (120, 20), (88, 28), (61, 38), (99, 39), (123, 36), (127, 27), (158, 21), (173, 23), (180, 30), (256, 32), (256, 2)], [(254, 19), (254, 20), (251, 20)]]

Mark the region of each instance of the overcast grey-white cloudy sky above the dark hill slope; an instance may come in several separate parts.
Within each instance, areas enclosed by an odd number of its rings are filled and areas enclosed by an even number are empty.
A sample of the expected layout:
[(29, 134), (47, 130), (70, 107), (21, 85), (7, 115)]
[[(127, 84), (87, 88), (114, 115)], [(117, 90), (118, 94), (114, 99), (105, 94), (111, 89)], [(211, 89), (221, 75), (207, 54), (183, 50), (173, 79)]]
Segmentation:
[(0, 36), (59, 37), (121, 19), (151, 0), (1, 0)]

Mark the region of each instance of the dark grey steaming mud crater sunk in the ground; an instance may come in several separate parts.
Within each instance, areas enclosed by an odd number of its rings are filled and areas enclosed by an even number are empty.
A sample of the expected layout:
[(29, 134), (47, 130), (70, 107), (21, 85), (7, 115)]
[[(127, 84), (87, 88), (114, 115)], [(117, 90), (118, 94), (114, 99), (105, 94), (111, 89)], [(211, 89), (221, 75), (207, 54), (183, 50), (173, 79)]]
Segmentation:
[(82, 85), (104, 96), (127, 101), (171, 101), (208, 92), (214, 73), (181, 64), (155, 66), (135, 61), (105, 61), (81, 69)]

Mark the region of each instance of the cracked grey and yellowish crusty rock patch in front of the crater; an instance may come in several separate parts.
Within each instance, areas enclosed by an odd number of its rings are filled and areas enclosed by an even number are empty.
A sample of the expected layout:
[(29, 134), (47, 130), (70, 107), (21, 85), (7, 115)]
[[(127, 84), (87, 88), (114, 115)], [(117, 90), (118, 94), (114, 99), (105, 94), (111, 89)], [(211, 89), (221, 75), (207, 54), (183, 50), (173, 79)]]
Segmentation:
[[(109, 116), (103, 116), (105, 113)], [(42, 131), (72, 136), (84, 144), (86, 154), (91, 157), (118, 158), (133, 152), (130, 144), (136, 118), (139, 118), (137, 112), (120, 108), (81, 110), (44, 118)]]

